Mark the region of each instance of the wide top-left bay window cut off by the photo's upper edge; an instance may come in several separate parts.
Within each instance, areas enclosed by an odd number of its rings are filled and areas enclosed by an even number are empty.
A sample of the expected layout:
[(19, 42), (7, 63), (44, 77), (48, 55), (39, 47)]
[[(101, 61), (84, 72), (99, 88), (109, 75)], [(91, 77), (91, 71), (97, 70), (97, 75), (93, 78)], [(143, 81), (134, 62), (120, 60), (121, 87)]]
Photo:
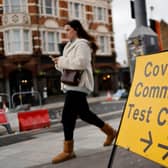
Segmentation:
[(4, 0), (4, 13), (27, 12), (27, 0)]

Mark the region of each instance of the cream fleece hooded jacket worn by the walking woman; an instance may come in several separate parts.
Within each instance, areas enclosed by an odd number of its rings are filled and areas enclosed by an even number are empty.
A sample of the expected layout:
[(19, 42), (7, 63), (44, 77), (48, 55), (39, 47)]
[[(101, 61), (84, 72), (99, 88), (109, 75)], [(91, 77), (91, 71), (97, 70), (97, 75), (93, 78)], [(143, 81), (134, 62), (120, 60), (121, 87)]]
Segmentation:
[(56, 69), (77, 69), (84, 70), (78, 86), (62, 84), (62, 90), (75, 90), (90, 93), (94, 88), (93, 71), (91, 65), (91, 48), (85, 39), (77, 38), (73, 42), (68, 42), (64, 48), (63, 56), (59, 57)]

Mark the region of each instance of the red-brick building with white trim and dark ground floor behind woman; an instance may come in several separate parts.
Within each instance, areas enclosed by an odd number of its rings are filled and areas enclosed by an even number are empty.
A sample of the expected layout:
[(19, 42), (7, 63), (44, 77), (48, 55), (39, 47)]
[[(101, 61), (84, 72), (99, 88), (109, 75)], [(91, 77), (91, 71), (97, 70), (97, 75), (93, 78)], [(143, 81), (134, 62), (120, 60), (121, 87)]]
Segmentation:
[(116, 88), (110, 0), (0, 0), (0, 101), (4, 94), (16, 106), (30, 103), (32, 90), (44, 98), (60, 93), (60, 73), (48, 56), (60, 55), (71, 19), (97, 40), (96, 90)]

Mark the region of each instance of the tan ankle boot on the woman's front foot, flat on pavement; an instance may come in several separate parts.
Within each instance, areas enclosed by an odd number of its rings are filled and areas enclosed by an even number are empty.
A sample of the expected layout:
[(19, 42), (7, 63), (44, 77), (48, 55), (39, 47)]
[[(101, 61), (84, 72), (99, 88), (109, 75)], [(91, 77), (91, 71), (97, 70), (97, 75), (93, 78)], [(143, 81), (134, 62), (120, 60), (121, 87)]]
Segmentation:
[(73, 152), (73, 141), (64, 141), (64, 150), (52, 159), (52, 163), (60, 163), (76, 157)]

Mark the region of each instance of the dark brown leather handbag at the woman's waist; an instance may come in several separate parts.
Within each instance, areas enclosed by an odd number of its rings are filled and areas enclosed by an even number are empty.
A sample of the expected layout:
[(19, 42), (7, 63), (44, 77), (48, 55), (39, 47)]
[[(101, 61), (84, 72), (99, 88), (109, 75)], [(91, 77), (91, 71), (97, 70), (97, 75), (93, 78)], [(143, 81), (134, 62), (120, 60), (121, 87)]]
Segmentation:
[(78, 86), (82, 73), (82, 70), (64, 69), (61, 76), (61, 82), (71, 86)]

